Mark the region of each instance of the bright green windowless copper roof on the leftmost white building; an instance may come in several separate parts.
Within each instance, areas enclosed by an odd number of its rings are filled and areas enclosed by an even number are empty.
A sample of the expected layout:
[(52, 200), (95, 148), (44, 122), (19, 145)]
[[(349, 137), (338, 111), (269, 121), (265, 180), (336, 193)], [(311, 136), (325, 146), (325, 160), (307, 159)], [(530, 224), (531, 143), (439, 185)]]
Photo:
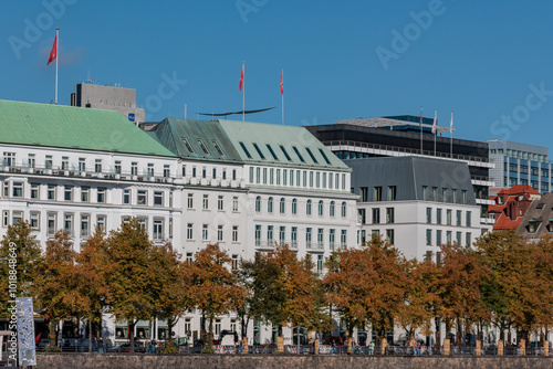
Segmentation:
[(2, 99), (0, 143), (175, 156), (117, 112)]

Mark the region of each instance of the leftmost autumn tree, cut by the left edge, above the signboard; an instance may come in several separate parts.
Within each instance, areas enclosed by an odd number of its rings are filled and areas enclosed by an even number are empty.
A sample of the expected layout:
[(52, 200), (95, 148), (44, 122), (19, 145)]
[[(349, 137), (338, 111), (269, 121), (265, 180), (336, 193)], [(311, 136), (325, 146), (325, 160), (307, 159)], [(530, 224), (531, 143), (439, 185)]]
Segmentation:
[[(14, 249), (15, 257), (12, 257), (13, 252), (10, 249)], [(10, 260), (15, 261), (12, 264), (17, 272), (14, 295), (11, 295), (9, 291)], [(0, 243), (0, 314), (8, 313), (7, 308), (11, 307), (8, 302), (13, 301), (14, 297), (33, 297), (32, 289), (41, 260), (41, 249), (35, 242), (31, 225), (24, 221), (15, 225), (8, 225)]]

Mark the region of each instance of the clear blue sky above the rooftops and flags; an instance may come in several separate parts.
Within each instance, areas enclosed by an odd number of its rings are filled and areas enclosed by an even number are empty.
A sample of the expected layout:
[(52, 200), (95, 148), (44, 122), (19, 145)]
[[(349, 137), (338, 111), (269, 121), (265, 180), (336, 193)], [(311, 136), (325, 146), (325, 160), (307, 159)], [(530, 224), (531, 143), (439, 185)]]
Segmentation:
[[(431, 22), (418, 25), (421, 12)], [(181, 117), (185, 104), (189, 118), (240, 110), (246, 61), (246, 108), (278, 107), (249, 120), (281, 122), (284, 68), (288, 125), (418, 115), (422, 106), (445, 126), (453, 110), (458, 138), (550, 147), (552, 14), (550, 1), (2, 0), (0, 98), (53, 101), (55, 64), (46, 61), (60, 27), (60, 104), (90, 73), (136, 88), (150, 120)], [(377, 50), (394, 59), (383, 63)], [(163, 75), (186, 83), (156, 106)]]

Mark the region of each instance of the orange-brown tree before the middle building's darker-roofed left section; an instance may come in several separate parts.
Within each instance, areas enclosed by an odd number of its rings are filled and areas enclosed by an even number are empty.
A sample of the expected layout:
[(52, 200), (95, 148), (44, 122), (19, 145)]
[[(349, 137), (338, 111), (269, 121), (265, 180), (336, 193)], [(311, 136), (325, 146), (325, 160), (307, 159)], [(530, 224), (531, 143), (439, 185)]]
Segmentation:
[[(237, 285), (236, 276), (229, 270), (230, 263), (231, 259), (218, 244), (209, 244), (186, 267), (187, 298), (189, 305), (201, 313), (202, 340), (208, 347), (212, 345), (215, 318), (230, 313), (244, 296), (243, 287)], [(207, 320), (209, 328), (206, 333)]]

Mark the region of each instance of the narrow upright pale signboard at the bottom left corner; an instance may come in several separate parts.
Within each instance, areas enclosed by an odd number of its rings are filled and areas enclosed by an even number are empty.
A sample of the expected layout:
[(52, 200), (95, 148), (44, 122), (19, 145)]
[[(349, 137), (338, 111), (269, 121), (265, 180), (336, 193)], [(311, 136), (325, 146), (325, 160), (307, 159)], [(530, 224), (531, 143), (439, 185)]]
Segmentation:
[[(18, 312), (18, 346), (19, 363), (27, 361), (28, 366), (36, 365), (34, 347), (34, 314), (32, 297), (15, 297)], [(25, 361), (23, 361), (25, 360)]]

